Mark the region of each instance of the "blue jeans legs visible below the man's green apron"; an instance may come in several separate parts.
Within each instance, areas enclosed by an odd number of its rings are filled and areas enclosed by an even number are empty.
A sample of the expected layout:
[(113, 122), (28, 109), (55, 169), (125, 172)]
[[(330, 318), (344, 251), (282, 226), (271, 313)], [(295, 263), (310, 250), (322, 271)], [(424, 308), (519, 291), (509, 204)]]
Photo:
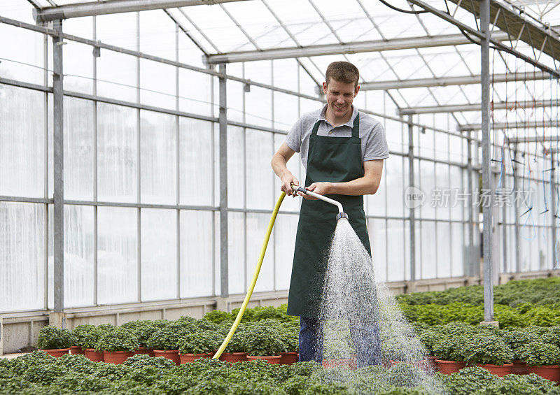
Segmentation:
[[(316, 318), (300, 317), (300, 361), (323, 363), (323, 328)], [(356, 349), (358, 368), (381, 364), (379, 325), (350, 322), (350, 337)]]

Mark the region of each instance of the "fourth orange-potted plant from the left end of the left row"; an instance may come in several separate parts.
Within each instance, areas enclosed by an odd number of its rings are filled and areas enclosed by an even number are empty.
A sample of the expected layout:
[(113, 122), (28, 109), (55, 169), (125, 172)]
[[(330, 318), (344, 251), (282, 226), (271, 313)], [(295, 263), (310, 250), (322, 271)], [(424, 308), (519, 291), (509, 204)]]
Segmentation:
[(103, 352), (105, 362), (122, 364), (132, 357), (139, 347), (137, 334), (132, 329), (117, 326), (99, 337), (95, 350)]

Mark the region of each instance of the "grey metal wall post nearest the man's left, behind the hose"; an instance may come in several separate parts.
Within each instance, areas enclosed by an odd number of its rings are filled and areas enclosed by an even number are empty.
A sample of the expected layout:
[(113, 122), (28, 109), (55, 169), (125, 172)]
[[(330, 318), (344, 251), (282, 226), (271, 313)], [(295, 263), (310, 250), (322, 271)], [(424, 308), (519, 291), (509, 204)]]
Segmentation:
[[(225, 75), (225, 64), (218, 71)], [(220, 84), (220, 284), (221, 297), (227, 298), (228, 289), (228, 113), (227, 81), (222, 76)]]

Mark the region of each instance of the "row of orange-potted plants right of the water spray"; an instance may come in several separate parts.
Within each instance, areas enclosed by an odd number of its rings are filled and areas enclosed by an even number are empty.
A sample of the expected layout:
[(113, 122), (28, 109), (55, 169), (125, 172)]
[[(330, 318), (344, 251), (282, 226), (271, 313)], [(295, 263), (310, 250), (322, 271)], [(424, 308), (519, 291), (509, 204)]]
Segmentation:
[(476, 365), (499, 376), (536, 373), (560, 382), (560, 326), (500, 330), (456, 322), (417, 330), (442, 373)]

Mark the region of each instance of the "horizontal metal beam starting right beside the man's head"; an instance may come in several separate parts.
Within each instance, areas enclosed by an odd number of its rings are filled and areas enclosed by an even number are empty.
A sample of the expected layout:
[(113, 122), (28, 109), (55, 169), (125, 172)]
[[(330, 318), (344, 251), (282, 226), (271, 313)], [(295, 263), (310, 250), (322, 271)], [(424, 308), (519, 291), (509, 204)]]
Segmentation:
[[(528, 80), (549, 80), (550, 74), (538, 71), (533, 73), (508, 73), (495, 74), (492, 76), (492, 83), (497, 82), (514, 82)], [(474, 85), (481, 82), (480, 76), (458, 76), (458, 77), (440, 77), (440, 78), (416, 78), (413, 80), (391, 80), (377, 82), (362, 82), (360, 90), (386, 90), (386, 89), (403, 89), (403, 88), (419, 88), (419, 87), (447, 87), (449, 85)]]

